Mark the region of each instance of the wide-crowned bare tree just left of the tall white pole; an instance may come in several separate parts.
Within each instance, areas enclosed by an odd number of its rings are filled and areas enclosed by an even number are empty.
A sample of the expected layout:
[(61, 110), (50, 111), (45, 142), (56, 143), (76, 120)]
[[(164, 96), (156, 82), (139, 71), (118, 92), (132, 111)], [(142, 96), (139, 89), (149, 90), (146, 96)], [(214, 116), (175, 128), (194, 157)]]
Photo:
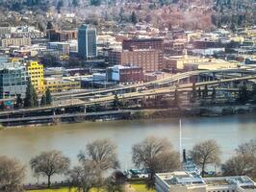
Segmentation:
[(136, 167), (149, 171), (147, 187), (154, 185), (157, 172), (172, 171), (180, 167), (179, 154), (165, 138), (147, 137), (132, 148), (132, 160)]

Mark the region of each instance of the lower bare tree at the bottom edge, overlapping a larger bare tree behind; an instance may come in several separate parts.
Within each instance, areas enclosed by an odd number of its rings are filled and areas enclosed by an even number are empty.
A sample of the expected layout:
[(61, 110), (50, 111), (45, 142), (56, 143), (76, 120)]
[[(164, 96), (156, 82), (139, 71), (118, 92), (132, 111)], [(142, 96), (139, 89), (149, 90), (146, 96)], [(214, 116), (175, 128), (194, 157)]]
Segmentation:
[(99, 170), (94, 162), (85, 160), (67, 173), (69, 189), (88, 192), (99, 182)]

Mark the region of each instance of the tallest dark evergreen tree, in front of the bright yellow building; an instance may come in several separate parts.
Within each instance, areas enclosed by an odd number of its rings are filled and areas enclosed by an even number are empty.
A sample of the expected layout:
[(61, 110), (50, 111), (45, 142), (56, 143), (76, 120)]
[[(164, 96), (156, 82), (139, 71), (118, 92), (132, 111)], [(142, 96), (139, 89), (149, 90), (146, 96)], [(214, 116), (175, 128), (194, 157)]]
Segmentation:
[(38, 106), (38, 95), (37, 92), (29, 80), (26, 88), (26, 96), (24, 99), (25, 108), (33, 108)]

